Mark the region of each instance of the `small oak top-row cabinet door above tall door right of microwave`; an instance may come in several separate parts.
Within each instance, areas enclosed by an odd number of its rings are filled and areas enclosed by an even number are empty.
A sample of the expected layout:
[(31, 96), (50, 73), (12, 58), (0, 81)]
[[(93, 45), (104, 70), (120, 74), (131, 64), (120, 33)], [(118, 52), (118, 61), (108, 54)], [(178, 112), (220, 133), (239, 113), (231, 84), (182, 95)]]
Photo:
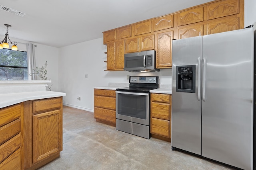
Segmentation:
[(156, 18), (152, 21), (153, 31), (160, 31), (173, 27), (173, 15)]

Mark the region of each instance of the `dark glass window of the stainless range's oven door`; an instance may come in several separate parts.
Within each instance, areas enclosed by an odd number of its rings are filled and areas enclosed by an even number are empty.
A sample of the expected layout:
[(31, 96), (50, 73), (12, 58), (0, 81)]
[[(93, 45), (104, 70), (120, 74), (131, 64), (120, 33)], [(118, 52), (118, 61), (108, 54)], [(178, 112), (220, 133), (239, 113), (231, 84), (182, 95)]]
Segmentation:
[(128, 117), (147, 119), (148, 96), (118, 94), (117, 113)]

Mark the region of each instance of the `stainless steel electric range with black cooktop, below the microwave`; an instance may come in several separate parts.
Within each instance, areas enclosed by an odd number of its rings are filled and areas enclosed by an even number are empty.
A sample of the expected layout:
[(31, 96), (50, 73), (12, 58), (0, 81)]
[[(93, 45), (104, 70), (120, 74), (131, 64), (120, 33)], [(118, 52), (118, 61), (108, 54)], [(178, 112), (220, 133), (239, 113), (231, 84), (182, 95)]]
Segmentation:
[(158, 76), (131, 76), (129, 87), (116, 89), (116, 129), (150, 139), (150, 90)]

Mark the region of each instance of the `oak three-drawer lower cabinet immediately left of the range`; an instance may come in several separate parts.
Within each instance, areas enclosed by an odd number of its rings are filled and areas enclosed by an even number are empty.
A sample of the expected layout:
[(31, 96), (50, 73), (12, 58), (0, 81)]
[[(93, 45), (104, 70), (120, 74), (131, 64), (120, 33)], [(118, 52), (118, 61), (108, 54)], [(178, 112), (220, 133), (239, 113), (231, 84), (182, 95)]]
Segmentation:
[(94, 89), (94, 118), (116, 126), (116, 90)]

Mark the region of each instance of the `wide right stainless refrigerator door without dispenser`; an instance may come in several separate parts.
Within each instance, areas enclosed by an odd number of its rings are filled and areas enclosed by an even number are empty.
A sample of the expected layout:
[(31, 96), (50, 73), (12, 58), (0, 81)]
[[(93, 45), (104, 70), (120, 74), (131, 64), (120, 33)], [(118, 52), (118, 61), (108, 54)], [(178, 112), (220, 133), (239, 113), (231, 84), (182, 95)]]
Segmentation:
[(206, 35), (202, 42), (202, 156), (250, 170), (253, 28)]

